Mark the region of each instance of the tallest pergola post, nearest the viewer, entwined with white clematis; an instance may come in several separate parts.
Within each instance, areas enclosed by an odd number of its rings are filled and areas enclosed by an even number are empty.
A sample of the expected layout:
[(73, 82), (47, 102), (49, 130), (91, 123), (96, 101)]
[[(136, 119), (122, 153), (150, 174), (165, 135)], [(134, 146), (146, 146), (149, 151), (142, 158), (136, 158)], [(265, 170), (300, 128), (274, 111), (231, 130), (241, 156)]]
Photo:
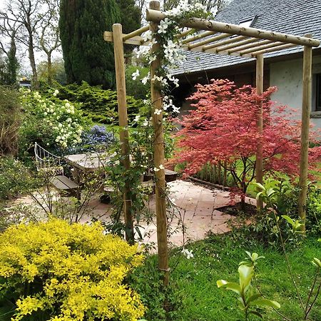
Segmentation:
[[(160, 10), (159, 1), (151, 1), (149, 8)], [(158, 24), (151, 22), (151, 31), (158, 31)], [(159, 44), (154, 44), (151, 51), (162, 50)], [(161, 68), (161, 59), (151, 63), (151, 100), (153, 103), (153, 127), (154, 127), (154, 165), (159, 168), (165, 163), (164, 153), (164, 133), (163, 133), (163, 112), (155, 113), (156, 109), (161, 111), (163, 108), (162, 93), (159, 83), (153, 81), (157, 76), (158, 69)], [(158, 243), (158, 268), (164, 273), (163, 284), (168, 285), (168, 243), (167, 243), (167, 218), (166, 218), (166, 200), (165, 200), (165, 171), (158, 170), (156, 173), (156, 221), (157, 221), (157, 243)]]

